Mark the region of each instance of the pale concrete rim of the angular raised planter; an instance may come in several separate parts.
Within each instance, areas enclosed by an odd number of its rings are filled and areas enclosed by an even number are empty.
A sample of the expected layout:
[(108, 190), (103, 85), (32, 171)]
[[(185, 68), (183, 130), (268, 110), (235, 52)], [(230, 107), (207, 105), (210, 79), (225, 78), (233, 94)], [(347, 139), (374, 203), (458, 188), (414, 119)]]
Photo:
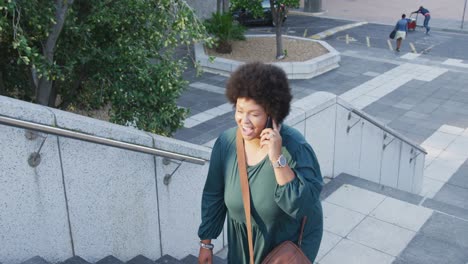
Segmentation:
[[(248, 35), (247, 38), (255, 37), (276, 37), (275, 35)], [(282, 68), (289, 79), (311, 79), (317, 75), (328, 72), (332, 69), (339, 67), (341, 60), (340, 54), (328, 43), (320, 40), (313, 40), (309, 38), (301, 38), (294, 36), (284, 35), (284, 38), (301, 39), (305, 41), (314, 41), (322, 45), (328, 50), (328, 53), (313, 58), (307, 61), (299, 62), (274, 62), (273, 64)], [(210, 57), (205, 53), (202, 43), (195, 44), (195, 58), (202, 66), (203, 70), (223, 76), (229, 76), (231, 72), (235, 71), (237, 67), (245, 62), (235, 61), (225, 58), (215, 58), (210, 60)]]

